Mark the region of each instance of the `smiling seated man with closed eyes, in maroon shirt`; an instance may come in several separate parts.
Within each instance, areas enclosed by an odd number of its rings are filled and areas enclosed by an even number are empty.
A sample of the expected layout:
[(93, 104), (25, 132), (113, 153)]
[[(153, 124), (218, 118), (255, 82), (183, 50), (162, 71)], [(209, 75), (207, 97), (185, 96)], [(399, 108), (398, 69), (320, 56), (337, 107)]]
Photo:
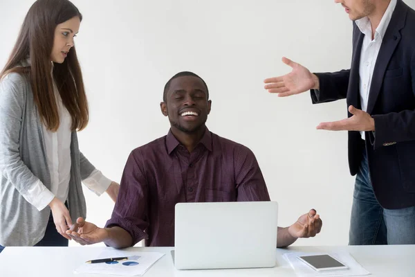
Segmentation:
[[(147, 247), (173, 247), (177, 203), (270, 201), (252, 151), (206, 127), (211, 105), (202, 78), (187, 71), (174, 75), (160, 103), (171, 128), (129, 155), (106, 227), (80, 217), (66, 233), (80, 244), (123, 248), (145, 240)], [(320, 216), (311, 209), (293, 225), (278, 227), (277, 247), (313, 237), (321, 228)]]

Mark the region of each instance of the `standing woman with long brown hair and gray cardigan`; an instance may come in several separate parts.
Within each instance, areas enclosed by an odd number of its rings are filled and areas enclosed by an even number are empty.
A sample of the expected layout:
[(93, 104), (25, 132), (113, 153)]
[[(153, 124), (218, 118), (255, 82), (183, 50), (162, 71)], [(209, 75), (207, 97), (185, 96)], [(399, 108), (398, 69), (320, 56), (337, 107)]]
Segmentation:
[(119, 185), (77, 143), (89, 116), (73, 42), (81, 21), (71, 1), (35, 1), (0, 73), (0, 252), (67, 246), (86, 216), (81, 181), (116, 201)]

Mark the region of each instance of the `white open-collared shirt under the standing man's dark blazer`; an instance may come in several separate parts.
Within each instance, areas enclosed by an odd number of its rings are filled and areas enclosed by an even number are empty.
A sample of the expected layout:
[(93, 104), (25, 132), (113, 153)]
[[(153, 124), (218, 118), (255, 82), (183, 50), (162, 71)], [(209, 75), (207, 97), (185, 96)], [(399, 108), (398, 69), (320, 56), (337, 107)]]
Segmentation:
[[(391, 21), (392, 13), (395, 10), (397, 0), (391, 0), (385, 14), (380, 20), (378, 28), (372, 40), (371, 23), (369, 18), (363, 17), (356, 20), (360, 32), (365, 34), (363, 38), (362, 51), (360, 53), (360, 65), (359, 65), (359, 85), (360, 85), (360, 104), (362, 105), (362, 111), (367, 111), (367, 102), (369, 100), (369, 91), (372, 82), (372, 75), (374, 73), (376, 59), (378, 58), (380, 46), (382, 45), (382, 39), (385, 37), (387, 26)], [(380, 80), (376, 80), (380, 82)], [(365, 132), (360, 132), (362, 139), (365, 139)]]

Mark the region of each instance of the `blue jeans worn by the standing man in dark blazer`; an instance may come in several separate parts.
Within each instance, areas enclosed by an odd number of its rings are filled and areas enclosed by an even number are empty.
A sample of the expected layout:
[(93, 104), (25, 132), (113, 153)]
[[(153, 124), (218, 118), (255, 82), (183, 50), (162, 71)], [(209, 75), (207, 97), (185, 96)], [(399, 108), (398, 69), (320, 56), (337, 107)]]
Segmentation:
[(415, 207), (388, 210), (375, 197), (364, 151), (353, 193), (350, 245), (415, 244)]

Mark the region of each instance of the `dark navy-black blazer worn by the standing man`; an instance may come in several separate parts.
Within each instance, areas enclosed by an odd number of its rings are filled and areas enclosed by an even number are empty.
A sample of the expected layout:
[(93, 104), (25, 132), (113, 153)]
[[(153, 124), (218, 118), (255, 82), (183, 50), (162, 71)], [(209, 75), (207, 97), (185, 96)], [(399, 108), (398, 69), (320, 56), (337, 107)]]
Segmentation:
[[(360, 108), (359, 63), (364, 34), (353, 22), (351, 69), (317, 73), (313, 103), (347, 98)], [(375, 132), (349, 132), (349, 168), (356, 175), (366, 148), (374, 193), (384, 208), (415, 206), (415, 11), (402, 0), (387, 27), (376, 60), (367, 112)], [(348, 112), (348, 116), (352, 116)]]

